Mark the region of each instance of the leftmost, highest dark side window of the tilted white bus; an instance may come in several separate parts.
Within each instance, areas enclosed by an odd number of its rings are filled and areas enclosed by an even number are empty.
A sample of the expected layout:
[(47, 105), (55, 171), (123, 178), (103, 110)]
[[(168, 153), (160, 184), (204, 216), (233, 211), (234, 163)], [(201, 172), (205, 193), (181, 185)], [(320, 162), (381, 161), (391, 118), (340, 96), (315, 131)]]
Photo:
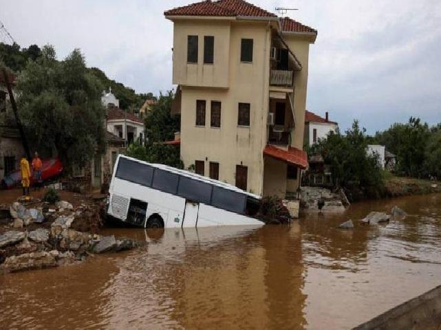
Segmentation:
[(153, 168), (149, 165), (120, 157), (116, 177), (149, 187), (153, 177)]

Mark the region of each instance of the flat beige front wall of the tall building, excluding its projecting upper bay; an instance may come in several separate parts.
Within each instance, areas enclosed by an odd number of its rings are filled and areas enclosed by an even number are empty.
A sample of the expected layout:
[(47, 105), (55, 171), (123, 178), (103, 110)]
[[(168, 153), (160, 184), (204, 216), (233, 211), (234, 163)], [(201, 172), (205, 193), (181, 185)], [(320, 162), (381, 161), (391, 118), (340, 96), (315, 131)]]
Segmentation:
[[(240, 62), (242, 38), (254, 40), (252, 63)], [(235, 184), (236, 165), (248, 166), (247, 190), (260, 195), (267, 139), (270, 31), (264, 23), (233, 23), (230, 41), (229, 67), (224, 68), (230, 72), (229, 89), (182, 87), (181, 157), (185, 167), (204, 160), (206, 176), (209, 162), (219, 162), (219, 179), (229, 184)], [(206, 125), (202, 127), (195, 126), (196, 100), (206, 100)], [(210, 126), (212, 100), (222, 102), (220, 128)], [(250, 126), (237, 125), (239, 102), (250, 103)]]

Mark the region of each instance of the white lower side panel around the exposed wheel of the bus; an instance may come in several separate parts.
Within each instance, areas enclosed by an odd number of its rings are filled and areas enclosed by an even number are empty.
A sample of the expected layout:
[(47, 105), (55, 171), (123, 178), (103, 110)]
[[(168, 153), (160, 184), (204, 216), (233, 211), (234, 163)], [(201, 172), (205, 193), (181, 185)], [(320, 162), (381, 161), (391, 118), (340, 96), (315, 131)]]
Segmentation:
[[(159, 214), (164, 220), (165, 228), (176, 228), (182, 225), (182, 217), (185, 208), (185, 199), (160, 190), (149, 187), (133, 184), (130, 181), (125, 181), (114, 178), (113, 194), (121, 194), (130, 196), (134, 199), (147, 202), (146, 219), (152, 214)], [(179, 222), (175, 222), (178, 218)]]

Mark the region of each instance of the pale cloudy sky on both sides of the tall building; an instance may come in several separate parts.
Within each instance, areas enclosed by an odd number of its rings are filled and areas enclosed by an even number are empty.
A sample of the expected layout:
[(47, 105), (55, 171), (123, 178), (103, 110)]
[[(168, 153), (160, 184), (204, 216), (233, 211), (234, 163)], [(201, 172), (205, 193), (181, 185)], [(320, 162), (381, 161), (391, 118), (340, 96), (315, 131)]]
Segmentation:
[[(319, 30), (310, 52), (307, 109), (369, 133), (419, 116), (441, 122), (441, 1), (250, 0)], [(138, 92), (170, 89), (172, 23), (191, 0), (0, 0), (0, 21), (23, 47), (79, 47), (87, 65)]]

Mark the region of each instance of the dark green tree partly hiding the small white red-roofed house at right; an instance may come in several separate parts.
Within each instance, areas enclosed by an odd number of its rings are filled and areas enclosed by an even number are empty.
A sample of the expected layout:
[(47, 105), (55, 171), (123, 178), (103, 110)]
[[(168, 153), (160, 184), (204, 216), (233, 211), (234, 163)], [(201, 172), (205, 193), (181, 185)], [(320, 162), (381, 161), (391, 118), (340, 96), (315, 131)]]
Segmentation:
[(337, 132), (319, 140), (310, 148), (310, 155), (321, 154), (330, 164), (336, 187), (357, 187), (375, 193), (383, 186), (376, 155), (367, 153), (367, 135), (354, 120), (344, 135)]

